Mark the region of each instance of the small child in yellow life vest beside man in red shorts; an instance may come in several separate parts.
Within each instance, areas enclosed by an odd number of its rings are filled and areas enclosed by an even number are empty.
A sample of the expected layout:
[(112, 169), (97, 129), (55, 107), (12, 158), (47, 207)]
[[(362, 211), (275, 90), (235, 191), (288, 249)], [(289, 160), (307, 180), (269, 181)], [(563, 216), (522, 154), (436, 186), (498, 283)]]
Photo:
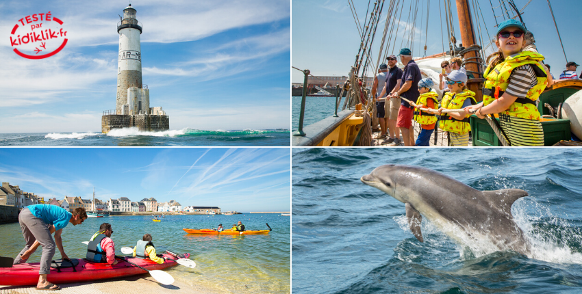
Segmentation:
[(414, 120), (420, 124), (420, 133), (416, 138), (416, 146), (429, 146), (429, 140), (435, 130), (435, 123), (437, 120), (435, 113), (420, 110), (420, 108), (438, 108), (438, 94), (431, 91), (433, 85), (433, 80), (430, 78), (418, 81), (418, 92), (420, 92), (420, 96), (418, 96), (418, 100), (416, 101)]

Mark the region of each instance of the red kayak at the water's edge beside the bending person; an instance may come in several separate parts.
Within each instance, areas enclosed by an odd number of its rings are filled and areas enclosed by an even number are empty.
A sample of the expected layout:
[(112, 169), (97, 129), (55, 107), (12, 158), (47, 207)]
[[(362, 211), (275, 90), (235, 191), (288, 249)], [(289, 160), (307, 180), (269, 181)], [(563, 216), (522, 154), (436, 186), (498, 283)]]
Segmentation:
[[(165, 252), (158, 254), (165, 258), (176, 259), (174, 254)], [(147, 273), (143, 269), (127, 263), (127, 261), (117, 258), (116, 265), (108, 265), (107, 263), (92, 263), (86, 259), (73, 259), (73, 263), (78, 262), (75, 267), (55, 267), (56, 264), (51, 264), (51, 273), (47, 276), (47, 280), (53, 284), (66, 284), (72, 282), (87, 282), (92, 280), (103, 280), (109, 278), (119, 278), (126, 276), (134, 276), (141, 273)], [(175, 261), (164, 260), (164, 263), (158, 264), (149, 259), (141, 259), (136, 257), (127, 257), (131, 263), (135, 263), (140, 267), (146, 269), (165, 269), (177, 265)], [(67, 262), (65, 262), (67, 263)], [(70, 263), (67, 263), (70, 265)], [(0, 284), (12, 286), (26, 286), (36, 285), (38, 282), (39, 263), (23, 263), (14, 265), (13, 267), (0, 267)]]

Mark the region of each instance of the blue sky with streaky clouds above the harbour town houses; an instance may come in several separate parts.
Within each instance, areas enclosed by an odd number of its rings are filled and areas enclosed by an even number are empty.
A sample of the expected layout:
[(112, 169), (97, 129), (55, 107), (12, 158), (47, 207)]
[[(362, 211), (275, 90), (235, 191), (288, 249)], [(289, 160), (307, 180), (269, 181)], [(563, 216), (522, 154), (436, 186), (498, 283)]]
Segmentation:
[(290, 148), (1, 148), (0, 181), (45, 200), (177, 200), (290, 211)]

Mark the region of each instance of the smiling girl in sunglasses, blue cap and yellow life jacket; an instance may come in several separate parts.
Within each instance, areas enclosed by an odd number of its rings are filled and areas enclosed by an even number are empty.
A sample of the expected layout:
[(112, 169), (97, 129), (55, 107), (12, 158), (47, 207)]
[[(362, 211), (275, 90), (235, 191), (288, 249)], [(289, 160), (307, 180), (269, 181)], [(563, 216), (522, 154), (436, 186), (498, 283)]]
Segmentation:
[(483, 107), (474, 105), (477, 117), (499, 113), (501, 133), (510, 146), (544, 146), (544, 131), (535, 101), (546, 88), (546, 68), (540, 53), (522, 51), (525, 27), (510, 19), (499, 25), (495, 44), (499, 51), (488, 57), (483, 73)]

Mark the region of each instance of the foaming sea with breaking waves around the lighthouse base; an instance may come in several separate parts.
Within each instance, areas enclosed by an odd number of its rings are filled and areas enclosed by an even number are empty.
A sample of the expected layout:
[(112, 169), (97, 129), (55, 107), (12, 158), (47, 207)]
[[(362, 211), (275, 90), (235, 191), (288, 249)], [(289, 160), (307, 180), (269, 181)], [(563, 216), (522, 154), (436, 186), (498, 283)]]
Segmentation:
[(0, 146), (289, 146), (290, 131), (283, 129), (204, 131), (181, 129), (161, 132), (137, 128), (102, 133), (0, 134)]

